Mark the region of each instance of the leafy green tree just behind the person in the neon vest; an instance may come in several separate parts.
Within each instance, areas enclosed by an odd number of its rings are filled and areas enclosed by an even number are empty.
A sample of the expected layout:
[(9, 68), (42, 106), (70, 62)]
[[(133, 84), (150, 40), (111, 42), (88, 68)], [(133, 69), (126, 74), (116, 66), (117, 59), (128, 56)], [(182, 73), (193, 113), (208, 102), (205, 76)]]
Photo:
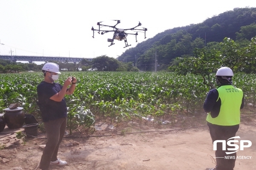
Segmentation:
[(227, 37), (220, 45), (220, 50), (207, 51), (206, 48), (201, 48), (195, 50), (194, 57), (178, 57), (175, 61), (179, 61), (179, 65), (174, 65), (169, 69), (176, 71), (178, 74), (201, 75), (205, 85), (215, 88), (211, 75), (220, 67), (229, 67), (233, 72), (249, 71), (248, 65), (250, 68), (256, 68), (256, 37), (251, 40), (250, 45), (246, 48), (241, 48), (238, 43)]

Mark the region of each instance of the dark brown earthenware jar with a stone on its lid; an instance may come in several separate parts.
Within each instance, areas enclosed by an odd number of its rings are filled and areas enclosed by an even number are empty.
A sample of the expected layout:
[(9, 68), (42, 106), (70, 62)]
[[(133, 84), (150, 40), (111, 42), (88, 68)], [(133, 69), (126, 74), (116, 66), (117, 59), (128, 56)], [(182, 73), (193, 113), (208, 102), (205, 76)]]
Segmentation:
[(4, 121), (10, 129), (16, 129), (22, 127), (24, 123), (23, 108), (17, 107), (15, 109), (6, 108), (4, 113)]

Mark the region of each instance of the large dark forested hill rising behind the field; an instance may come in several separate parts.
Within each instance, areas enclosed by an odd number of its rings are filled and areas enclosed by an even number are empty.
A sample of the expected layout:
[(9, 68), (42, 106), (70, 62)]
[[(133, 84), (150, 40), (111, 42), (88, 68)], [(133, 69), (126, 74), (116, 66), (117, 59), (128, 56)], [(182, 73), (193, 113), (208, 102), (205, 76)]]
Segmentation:
[[(176, 57), (192, 55), (193, 50), (204, 47), (205, 42), (207, 45), (209, 42), (222, 42), (225, 37), (236, 40), (239, 35), (241, 37), (242, 26), (254, 27), (255, 22), (256, 8), (234, 8), (233, 11), (207, 18), (202, 23), (163, 31), (137, 44), (136, 47), (126, 50), (117, 59), (134, 63), (136, 59), (138, 68), (144, 70), (145, 67), (145, 70), (150, 71), (154, 66), (155, 51), (157, 51), (158, 65), (161, 68)], [(249, 31), (246, 37), (242, 38), (250, 40), (255, 36), (255, 31)]]

